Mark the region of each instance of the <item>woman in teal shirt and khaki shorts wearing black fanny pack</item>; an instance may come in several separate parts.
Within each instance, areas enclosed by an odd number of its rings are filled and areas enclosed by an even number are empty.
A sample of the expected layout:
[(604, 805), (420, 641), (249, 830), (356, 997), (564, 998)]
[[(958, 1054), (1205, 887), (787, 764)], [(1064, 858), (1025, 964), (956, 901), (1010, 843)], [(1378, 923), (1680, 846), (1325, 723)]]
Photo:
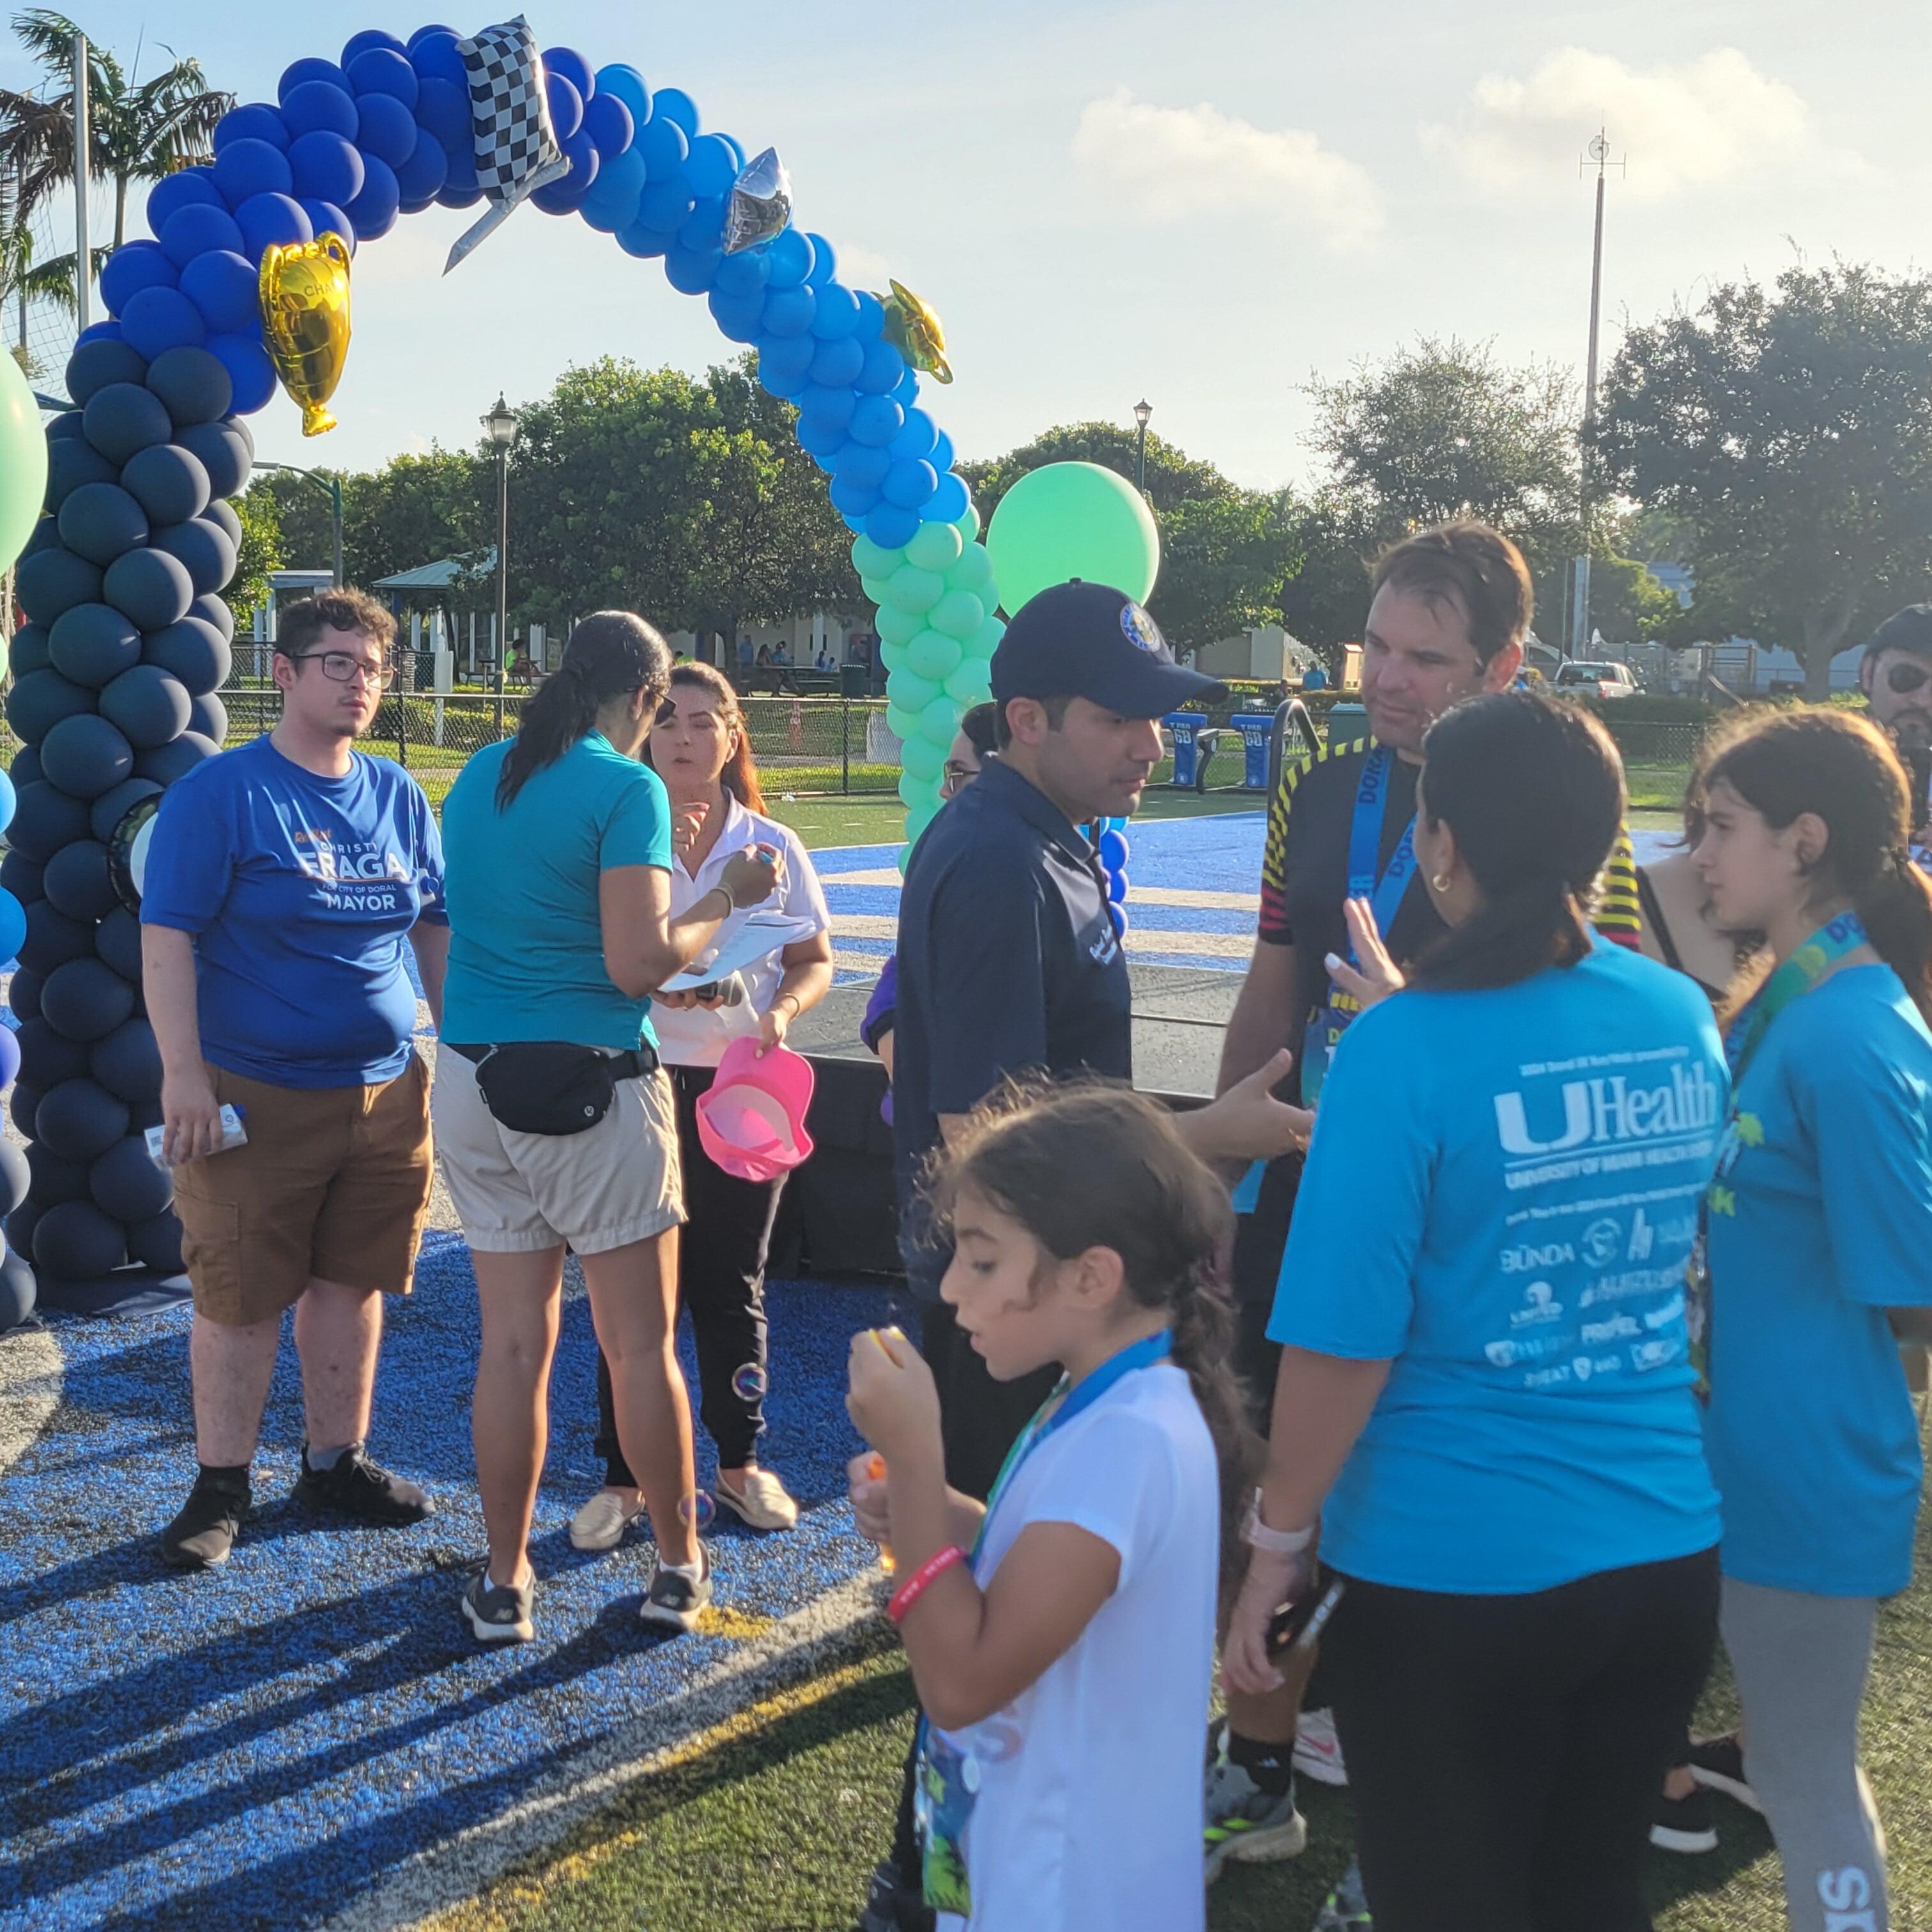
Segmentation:
[[(639, 1615), (688, 1631), (713, 1592), (676, 1352), (676, 1107), (649, 1009), (779, 873), (773, 850), (732, 852), (672, 912), (670, 806), (638, 759), (668, 682), (670, 651), (643, 618), (593, 612), (516, 736), (477, 752), (442, 808), (452, 941), (435, 1119), (483, 1314), (471, 1432), (489, 1561), (462, 1605), (485, 1644), (535, 1629), (529, 1522), (566, 1244), (657, 1538)], [(568, 1121), (558, 1090), (583, 1101)]]

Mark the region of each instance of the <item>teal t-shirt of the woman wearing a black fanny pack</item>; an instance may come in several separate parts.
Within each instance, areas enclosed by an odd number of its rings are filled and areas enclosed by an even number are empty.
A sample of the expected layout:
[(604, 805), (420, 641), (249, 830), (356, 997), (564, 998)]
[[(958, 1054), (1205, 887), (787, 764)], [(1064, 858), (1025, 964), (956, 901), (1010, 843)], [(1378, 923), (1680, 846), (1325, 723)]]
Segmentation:
[(477, 752), (442, 802), (450, 910), (442, 1037), (568, 1039), (614, 1053), (657, 1045), (649, 999), (618, 991), (605, 970), (597, 881), (614, 866), (670, 871), (665, 781), (591, 732), (531, 773), (498, 811), (508, 752), (508, 744)]

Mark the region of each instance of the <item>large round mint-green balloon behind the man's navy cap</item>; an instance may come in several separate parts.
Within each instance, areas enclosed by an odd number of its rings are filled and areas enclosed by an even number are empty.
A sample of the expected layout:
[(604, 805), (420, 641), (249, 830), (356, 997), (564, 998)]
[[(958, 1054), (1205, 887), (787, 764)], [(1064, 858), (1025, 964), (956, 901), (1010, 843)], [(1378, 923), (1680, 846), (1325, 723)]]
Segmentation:
[(1099, 464), (1028, 471), (999, 498), (985, 547), (1007, 616), (1068, 578), (1142, 603), (1161, 570), (1153, 512), (1126, 477)]

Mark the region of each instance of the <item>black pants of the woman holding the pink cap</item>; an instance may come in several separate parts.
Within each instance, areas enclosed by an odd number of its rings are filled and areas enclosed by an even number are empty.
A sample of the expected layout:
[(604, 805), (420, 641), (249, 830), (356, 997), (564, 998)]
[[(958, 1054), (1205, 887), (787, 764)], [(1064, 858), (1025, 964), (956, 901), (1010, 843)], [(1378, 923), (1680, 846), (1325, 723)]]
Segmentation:
[[(719, 1449), (719, 1468), (744, 1468), (765, 1430), (765, 1254), (784, 1177), (740, 1180), (697, 1140), (697, 1095), (711, 1092), (711, 1066), (667, 1066), (678, 1097), (678, 1159), (684, 1167), (684, 1229), (678, 1235), (678, 1306), (697, 1343), (699, 1414)], [(748, 1368), (752, 1374), (740, 1376)], [(597, 1350), (597, 1453), (612, 1490), (636, 1490), (616, 1441), (611, 1366)]]

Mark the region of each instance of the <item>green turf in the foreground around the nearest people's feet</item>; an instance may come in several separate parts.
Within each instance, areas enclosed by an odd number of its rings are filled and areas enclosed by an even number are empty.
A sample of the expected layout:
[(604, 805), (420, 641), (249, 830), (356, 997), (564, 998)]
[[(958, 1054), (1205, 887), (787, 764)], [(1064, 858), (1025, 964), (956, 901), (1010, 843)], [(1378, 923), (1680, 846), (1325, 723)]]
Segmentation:
[[(1891, 1924), (1932, 1932), (1932, 1517), (1920, 1522), (1924, 1580), (1880, 1619), (1866, 1700), (1864, 1762), (1891, 1843)], [(609, 1926), (728, 1924), (732, 1932), (844, 1932), (881, 1855), (912, 1733), (912, 1687), (881, 1627), (881, 1648), (773, 1700), (775, 1714), (715, 1748), (636, 1783), (556, 1851), (520, 1866), (475, 1901), (439, 1915), (437, 1932), (603, 1932)], [(1702, 1721), (1733, 1716), (1714, 1685)], [(1273, 1866), (1229, 1866), (1209, 1932), (1304, 1932), (1349, 1861), (1347, 1793), (1308, 1787), (1308, 1851)], [(1702, 1859), (1654, 1853), (1660, 1932), (1776, 1932), (1777, 1861), (1762, 1822), (1718, 1803), (1723, 1843)]]

